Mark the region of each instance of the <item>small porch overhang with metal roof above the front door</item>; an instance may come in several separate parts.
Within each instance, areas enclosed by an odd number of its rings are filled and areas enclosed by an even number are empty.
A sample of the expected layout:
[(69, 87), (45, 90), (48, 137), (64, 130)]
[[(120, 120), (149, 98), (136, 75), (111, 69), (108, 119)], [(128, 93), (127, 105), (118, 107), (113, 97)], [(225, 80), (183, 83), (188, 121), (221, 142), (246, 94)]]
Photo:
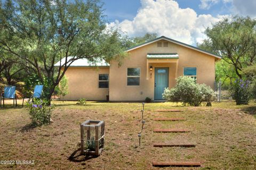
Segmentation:
[(178, 74), (178, 53), (149, 53), (147, 54), (147, 75), (146, 79), (149, 79), (149, 63), (176, 63), (175, 78)]

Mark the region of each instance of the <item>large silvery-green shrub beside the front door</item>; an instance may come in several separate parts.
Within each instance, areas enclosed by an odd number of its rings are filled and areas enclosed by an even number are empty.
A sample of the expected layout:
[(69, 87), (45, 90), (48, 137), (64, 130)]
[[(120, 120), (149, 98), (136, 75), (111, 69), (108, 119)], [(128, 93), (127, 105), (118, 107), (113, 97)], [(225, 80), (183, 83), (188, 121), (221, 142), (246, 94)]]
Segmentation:
[(211, 102), (214, 92), (210, 86), (197, 84), (191, 77), (178, 77), (174, 88), (165, 88), (163, 98), (167, 101), (183, 102), (184, 105), (200, 106), (202, 102)]

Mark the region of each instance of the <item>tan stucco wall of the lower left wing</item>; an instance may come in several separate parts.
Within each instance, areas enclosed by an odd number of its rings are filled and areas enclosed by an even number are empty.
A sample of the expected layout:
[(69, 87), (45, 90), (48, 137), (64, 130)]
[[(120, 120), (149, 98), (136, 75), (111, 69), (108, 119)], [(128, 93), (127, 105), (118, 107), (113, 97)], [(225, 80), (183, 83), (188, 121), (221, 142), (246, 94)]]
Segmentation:
[(69, 93), (64, 100), (106, 100), (109, 89), (99, 88), (99, 74), (109, 74), (109, 68), (68, 68), (65, 75), (68, 78)]

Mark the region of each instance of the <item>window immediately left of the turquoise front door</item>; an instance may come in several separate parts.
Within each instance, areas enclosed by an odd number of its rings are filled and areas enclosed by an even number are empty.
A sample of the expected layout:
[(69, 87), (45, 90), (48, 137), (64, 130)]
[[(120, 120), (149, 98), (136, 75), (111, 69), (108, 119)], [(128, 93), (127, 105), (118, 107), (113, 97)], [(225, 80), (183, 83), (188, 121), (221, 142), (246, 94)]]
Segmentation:
[(127, 86), (140, 85), (140, 68), (127, 68)]

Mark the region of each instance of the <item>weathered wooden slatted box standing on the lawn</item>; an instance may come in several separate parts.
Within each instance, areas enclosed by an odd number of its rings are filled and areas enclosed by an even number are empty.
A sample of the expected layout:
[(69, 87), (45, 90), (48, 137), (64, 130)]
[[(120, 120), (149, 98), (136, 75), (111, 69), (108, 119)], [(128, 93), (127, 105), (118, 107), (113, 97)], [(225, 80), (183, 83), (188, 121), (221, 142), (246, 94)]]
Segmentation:
[(104, 147), (105, 122), (86, 120), (80, 126), (82, 154), (99, 156)]

